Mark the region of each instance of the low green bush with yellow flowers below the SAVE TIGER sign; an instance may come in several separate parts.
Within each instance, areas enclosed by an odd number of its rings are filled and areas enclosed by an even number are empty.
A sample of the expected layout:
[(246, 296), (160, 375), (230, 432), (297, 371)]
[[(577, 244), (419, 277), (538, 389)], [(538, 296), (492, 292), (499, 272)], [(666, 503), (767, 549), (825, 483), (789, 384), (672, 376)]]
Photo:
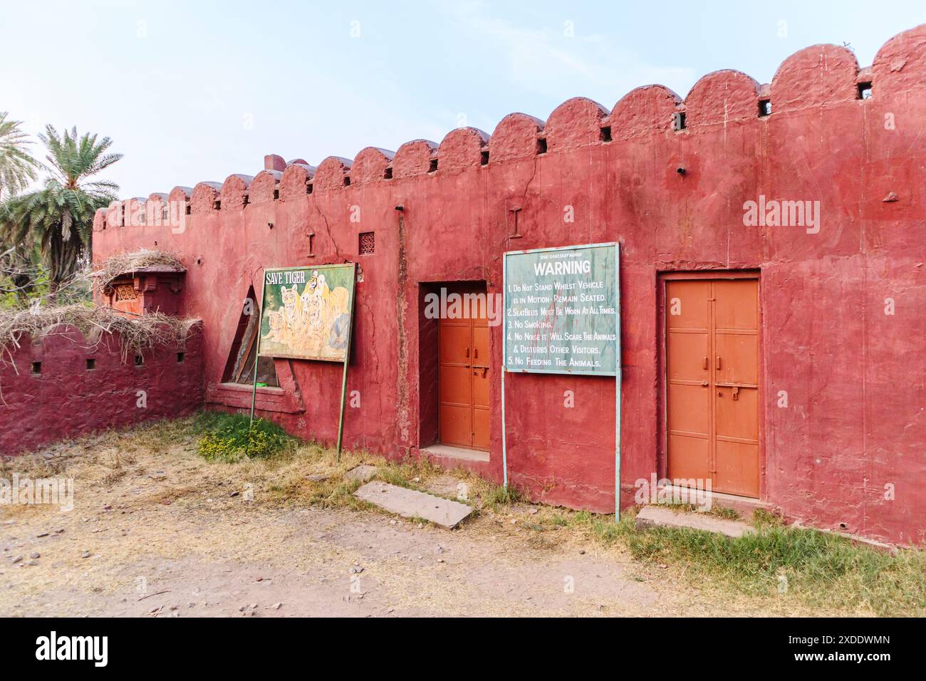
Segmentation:
[(206, 460), (269, 459), (294, 447), (295, 438), (276, 423), (242, 414), (206, 411), (194, 422), (201, 434), (199, 454)]

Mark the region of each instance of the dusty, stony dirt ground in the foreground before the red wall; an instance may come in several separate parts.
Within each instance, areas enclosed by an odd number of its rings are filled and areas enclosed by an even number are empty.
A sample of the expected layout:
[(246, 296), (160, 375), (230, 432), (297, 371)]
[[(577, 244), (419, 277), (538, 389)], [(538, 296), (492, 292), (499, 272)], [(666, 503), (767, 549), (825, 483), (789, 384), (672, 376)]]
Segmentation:
[[(337, 465), (361, 460), (382, 463), (348, 455)], [(173, 426), (7, 461), (0, 477), (73, 477), (75, 494), (73, 511), (0, 506), (0, 615), (826, 614), (695, 582), (566, 528), (538, 538), (532, 522), (556, 512), (545, 507), (482, 508), (453, 531), (362, 505), (325, 508), (307, 475), (334, 465), (328, 454), (210, 462)], [(446, 493), (458, 480), (432, 471), (418, 482)]]

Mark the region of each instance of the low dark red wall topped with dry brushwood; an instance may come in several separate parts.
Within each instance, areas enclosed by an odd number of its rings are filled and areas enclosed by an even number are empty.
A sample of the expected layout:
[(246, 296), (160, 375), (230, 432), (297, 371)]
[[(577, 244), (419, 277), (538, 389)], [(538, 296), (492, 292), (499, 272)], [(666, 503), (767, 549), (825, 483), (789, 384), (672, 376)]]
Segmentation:
[[(76, 329), (57, 326), (35, 340), (20, 338), (0, 363), (0, 454), (202, 408), (202, 336), (194, 327), (183, 344), (145, 350), (142, 366), (133, 356), (122, 362), (116, 335), (88, 344)], [(94, 359), (92, 370), (87, 359)], [(33, 362), (41, 372), (32, 372)]]

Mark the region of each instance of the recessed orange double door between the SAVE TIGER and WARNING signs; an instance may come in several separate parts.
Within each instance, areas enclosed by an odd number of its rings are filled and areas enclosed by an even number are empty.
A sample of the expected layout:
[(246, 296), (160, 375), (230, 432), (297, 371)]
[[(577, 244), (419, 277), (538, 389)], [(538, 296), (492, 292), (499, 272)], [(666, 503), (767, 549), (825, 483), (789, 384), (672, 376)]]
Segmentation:
[[(482, 293), (452, 289), (461, 296)], [(470, 308), (470, 306), (466, 306)], [(444, 445), (489, 448), (489, 325), (486, 306), (471, 306), (466, 319), (441, 319), (438, 324), (440, 440)]]

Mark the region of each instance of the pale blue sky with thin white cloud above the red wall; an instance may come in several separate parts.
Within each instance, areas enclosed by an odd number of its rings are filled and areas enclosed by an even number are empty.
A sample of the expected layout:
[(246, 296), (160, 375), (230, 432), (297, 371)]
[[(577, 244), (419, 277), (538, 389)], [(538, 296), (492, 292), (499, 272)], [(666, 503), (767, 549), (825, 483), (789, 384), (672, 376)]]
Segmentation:
[(868, 66), (923, 22), (921, 0), (2, 0), (0, 110), (29, 132), (109, 135), (125, 158), (108, 176), (146, 196), (257, 174), (269, 153), (317, 165), (464, 121), (492, 132), (576, 95), (610, 108), (661, 82), (683, 97), (716, 69), (769, 82), (810, 44), (850, 44)]

